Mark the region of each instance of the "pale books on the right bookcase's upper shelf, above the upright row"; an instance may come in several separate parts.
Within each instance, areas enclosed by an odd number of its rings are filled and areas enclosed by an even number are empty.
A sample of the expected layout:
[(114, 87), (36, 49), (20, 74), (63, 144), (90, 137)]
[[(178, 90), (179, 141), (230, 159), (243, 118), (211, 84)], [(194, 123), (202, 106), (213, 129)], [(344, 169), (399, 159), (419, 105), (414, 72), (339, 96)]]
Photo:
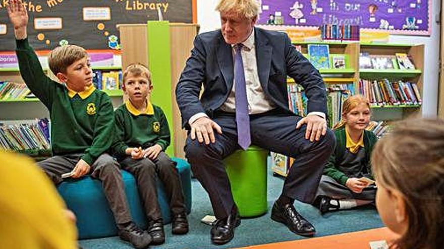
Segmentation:
[(415, 65), (406, 53), (395, 55), (370, 55), (367, 52), (359, 55), (359, 68), (414, 70)]

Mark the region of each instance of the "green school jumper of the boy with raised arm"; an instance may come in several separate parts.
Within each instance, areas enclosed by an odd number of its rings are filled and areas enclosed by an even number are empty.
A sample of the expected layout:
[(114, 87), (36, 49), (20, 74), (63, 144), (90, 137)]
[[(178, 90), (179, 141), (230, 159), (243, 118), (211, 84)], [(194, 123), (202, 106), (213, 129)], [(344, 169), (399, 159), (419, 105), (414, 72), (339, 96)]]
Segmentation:
[(31, 92), (46, 106), (51, 119), (53, 155), (83, 153), (91, 165), (112, 145), (113, 105), (109, 97), (90, 86), (81, 93), (45, 75), (28, 39), (16, 40), (20, 73)]

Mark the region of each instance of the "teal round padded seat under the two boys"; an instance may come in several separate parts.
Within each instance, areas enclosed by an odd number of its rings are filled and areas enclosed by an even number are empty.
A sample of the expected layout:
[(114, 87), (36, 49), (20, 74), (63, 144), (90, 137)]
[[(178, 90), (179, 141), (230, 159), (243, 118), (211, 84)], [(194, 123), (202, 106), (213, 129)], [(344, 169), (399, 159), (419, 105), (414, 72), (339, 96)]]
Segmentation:
[[(180, 158), (172, 158), (177, 162), (182, 188), (184, 191), (187, 213), (191, 211), (191, 170), (190, 164)], [(133, 175), (122, 170), (125, 192), (133, 220), (143, 229), (147, 228), (147, 220), (139, 198), (136, 180)], [(163, 184), (156, 182), (158, 201), (165, 224), (171, 222), (170, 205)], [(103, 194), (101, 182), (91, 177), (81, 180), (67, 180), (58, 186), (58, 191), (69, 209), (77, 217), (79, 239), (97, 238), (117, 235), (114, 216), (108, 207)]]

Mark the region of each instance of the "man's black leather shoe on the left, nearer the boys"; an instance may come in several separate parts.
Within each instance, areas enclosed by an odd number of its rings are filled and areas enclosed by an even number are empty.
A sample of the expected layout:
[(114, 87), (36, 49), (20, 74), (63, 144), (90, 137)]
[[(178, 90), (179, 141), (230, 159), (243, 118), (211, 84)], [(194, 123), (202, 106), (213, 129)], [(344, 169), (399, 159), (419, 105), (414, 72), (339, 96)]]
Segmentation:
[(215, 244), (225, 244), (234, 237), (234, 229), (241, 224), (237, 208), (225, 219), (214, 221), (211, 227), (211, 241)]

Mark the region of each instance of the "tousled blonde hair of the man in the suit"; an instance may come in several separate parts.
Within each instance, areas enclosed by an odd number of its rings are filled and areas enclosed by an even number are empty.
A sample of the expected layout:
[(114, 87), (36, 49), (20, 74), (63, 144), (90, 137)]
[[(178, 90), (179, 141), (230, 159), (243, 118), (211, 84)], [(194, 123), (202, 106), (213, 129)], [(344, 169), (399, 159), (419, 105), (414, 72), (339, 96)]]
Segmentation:
[(220, 0), (216, 11), (220, 13), (233, 11), (240, 17), (253, 19), (259, 16), (259, 8), (257, 0)]

